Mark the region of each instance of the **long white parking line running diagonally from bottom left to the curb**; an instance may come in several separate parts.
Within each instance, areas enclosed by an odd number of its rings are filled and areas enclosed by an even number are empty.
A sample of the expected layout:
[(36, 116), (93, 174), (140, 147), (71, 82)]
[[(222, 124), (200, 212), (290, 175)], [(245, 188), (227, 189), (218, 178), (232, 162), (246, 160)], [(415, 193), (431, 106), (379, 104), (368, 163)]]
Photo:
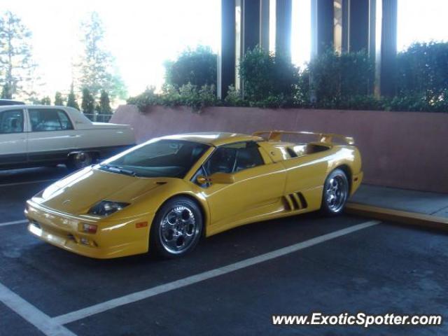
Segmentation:
[(116, 308), (116, 307), (120, 307), (123, 306), (125, 304), (130, 304), (132, 302), (137, 302), (140, 300), (144, 300), (147, 299), (148, 297), (153, 297), (155, 295), (158, 294), (162, 294), (162, 293), (167, 293), (171, 290), (176, 290), (185, 286), (190, 286), (194, 283), (198, 283), (207, 279), (212, 279), (215, 278), (216, 276), (221, 276), (224, 274), (228, 274), (231, 272), (235, 272), (239, 269), (244, 269), (246, 267), (250, 267), (253, 265), (257, 265), (260, 262), (265, 262), (268, 260), (272, 260), (274, 258), (279, 258), (283, 255), (287, 255), (296, 251), (300, 251), (304, 248), (307, 247), (311, 247), (317, 244), (321, 244), (324, 241), (329, 241), (331, 239), (335, 239), (337, 237), (342, 237), (344, 235), (349, 235), (352, 232), (356, 232), (359, 230), (363, 230), (365, 228), (370, 228), (373, 225), (377, 225), (381, 223), (380, 221), (368, 221), (365, 223), (360, 223), (358, 225), (353, 225), (350, 226), (349, 228), (344, 228), (342, 230), (337, 230), (334, 232), (330, 232), (326, 235), (322, 235), (319, 237), (314, 237), (312, 239), (308, 239), (306, 241), (302, 241), (300, 243), (297, 244), (293, 244), (290, 246), (286, 246), (283, 248), (279, 248), (277, 250), (262, 254), (262, 255), (258, 255), (256, 257), (253, 258), (248, 258), (245, 260), (241, 260), (239, 262), (235, 262), (233, 264), (227, 265), (227, 266), (223, 266), (223, 267), (219, 267), (216, 269), (211, 269), (210, 271), (207, 272), (202, 272), (200, 274), (195, 274), (192, 276), (187, 276), (184, 279), (180, 279), (180, 280), (176, 280), (176, 281), (172, 281), (169, 283), (165, 283), (163, 285), (160, 286), (155, 286), (153, 288), (148, 288), (146, 290), (141, 290), (139, 292), (136, 293), (132, 293), (132, 294), (128, 294), (128, 295), (124, 295), (122, 297), (117, 297), (116, 299), (113, 300), (109, 300), (106, 302), (102, 302), (99, 304), (94, 304), (93, 306), (90, 307), (86, 307), (83, 309), (79, 309), (77, 311), (72, 311), (71, 313), (68, 314), (64, 314), (64, 315), (59, 315), (56, 316), (55, 318), (52, 318), (52, 321), (57, 323), (58, 325), (64, 325), (67, 323), (71, 323), (74, 321), (78, 321), (81, 320), (83, 318), (86, 318), (88, 316), (92, 316), (94, 314), (99, 314), (102, 313), (104, 311), (108, 311), (110, 309)]

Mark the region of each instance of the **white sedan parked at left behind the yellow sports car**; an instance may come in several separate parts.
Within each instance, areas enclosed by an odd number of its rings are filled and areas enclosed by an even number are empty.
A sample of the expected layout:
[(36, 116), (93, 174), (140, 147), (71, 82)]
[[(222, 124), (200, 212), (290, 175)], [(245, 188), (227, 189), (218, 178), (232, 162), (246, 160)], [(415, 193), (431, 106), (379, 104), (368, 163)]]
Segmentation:
[(65, 106), (0, 106), (0, 169), (79, 169), (135, 144), (128, 125), (92, 123)]

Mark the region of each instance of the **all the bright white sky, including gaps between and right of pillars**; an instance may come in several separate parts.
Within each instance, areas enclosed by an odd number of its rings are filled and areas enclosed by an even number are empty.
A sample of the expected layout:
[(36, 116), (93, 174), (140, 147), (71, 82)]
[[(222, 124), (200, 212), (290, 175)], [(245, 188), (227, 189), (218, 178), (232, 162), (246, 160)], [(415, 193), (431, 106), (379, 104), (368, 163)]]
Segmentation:
[[(131, 95), (164, 81), (165, 59), (188, 46), (220, 43), (221, 0), (0, 0), (33, 34), (34, 57), (45, 82), (42, 94), (67, 92), (71, 64), (82, 51), (80, 22), (97, 11), (106, 48)], [(302, 66), (311, 50), (310, 1), (293, 0), (293, 62)], [(448, 41), (448, 0), (398, 0), (398, 49), (412, 41)]]

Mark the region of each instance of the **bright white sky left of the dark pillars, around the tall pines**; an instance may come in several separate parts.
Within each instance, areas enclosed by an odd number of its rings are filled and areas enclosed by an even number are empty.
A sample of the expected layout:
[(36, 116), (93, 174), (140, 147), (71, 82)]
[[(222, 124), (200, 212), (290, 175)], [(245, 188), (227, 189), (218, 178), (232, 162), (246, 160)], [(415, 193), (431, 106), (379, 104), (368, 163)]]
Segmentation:
[(34, 57), (46, 94), (69, 90), (71, 64), (82, 51), (80, 22), (97, 11), (106, 31), (105, 46), (130, 94), (164, 80), (165, 59), (188, 45), (219, 44), (220, 0), (0, 0), (1, 10), (22, 18), (33, 34)]

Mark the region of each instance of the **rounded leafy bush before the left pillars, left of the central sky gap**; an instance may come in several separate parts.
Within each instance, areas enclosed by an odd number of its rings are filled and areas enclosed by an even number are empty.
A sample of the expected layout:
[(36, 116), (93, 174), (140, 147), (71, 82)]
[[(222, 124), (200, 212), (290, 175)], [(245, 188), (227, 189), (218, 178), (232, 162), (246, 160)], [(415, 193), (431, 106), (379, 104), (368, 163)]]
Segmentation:
[(257, 46), (244, 54), (239, 76), (243, 81), (244, 99), (251, 105), (281, 106), (293, 101), (299, 71), (289, 59)]

